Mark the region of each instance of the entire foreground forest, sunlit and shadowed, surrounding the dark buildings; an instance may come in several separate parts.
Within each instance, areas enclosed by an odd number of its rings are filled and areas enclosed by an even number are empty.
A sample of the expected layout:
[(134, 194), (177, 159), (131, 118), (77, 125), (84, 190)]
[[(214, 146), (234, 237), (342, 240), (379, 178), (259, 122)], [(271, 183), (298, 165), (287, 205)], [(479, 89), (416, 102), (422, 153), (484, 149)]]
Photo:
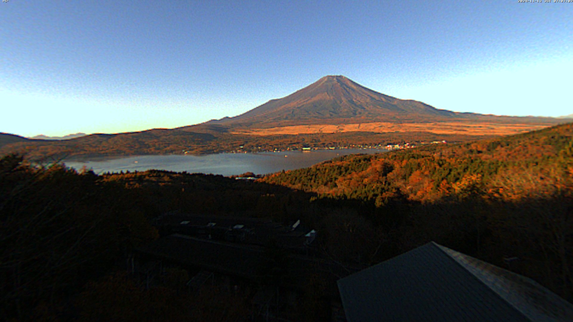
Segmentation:
[[(232, 292), (182, 289), (183, 270), (152, 288), (126, 273), (128, 254), (158, 237), (152, 219), (172, 210), (301, 219), (317, 231), (315, 252), (344, 269), (433, 240), (571, 301), (572, 138), (567, 124), (346, 156), (258, 182), (167, 171), (95, 175), (7, 155), (0, 159), (0, 318), (234, 321), (248, 314), (250, 300)], [(320, 292), (306, 290), (308, 320)]]

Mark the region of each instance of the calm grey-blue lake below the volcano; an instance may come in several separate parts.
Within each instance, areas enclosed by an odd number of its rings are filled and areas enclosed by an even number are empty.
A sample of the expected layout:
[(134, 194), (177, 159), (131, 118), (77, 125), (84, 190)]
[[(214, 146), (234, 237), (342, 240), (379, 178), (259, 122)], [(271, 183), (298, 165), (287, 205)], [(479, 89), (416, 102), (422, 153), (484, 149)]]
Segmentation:
[(238, 175), (251, 171), (268, 174), (281, 170), (305, 168), (337, 156), (349, 154), (375, 154), (384, 149), (341, 149), (315, 151), (285, 151), (264, 153), (221, 153), (209, 155), (146, 155), (126, 158), (108, 158), (93, 161), (65, 161), (66, 166), (80, 169), (86, 166), (97, 174), (121, 170), (146, 171), (150, 169), (187, 171), (190, 173)]

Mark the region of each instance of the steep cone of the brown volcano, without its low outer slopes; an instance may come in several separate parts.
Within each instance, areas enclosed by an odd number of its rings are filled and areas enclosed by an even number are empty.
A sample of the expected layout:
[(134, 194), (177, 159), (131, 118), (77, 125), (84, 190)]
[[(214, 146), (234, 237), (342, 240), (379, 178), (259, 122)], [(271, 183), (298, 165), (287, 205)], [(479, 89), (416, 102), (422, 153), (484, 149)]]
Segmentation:
[(363, 123), (452, 117), (450, 111), (372, 91), (342, 75), (321, 77), (311, 85), (281, 99), (270, 100), (246, 113), (209, 122), (232, 127)]

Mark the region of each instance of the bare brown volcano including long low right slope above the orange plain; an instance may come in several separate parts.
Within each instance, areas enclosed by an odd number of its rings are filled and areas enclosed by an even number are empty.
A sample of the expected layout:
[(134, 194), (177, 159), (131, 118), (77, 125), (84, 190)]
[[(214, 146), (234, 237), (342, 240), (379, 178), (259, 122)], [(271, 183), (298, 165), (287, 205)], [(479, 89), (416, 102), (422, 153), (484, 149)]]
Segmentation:
[[(291, 95), (270, 100), (241, 115), (211, 120), (184, 129), (194, 132), (230, 130), (234, 133), (238, 129), (241, 133), (254, 134), (259, 131), (245, 130), (309, 124), (401, 124), (454, 120), (534, 125), (559, 123), (550, 117), (508, 117), (446, 111), (419, 101), (401, 100), (372, 91), (344, 76), (325, 76)], [(527, 129), (533, 128), (536, 126)]]

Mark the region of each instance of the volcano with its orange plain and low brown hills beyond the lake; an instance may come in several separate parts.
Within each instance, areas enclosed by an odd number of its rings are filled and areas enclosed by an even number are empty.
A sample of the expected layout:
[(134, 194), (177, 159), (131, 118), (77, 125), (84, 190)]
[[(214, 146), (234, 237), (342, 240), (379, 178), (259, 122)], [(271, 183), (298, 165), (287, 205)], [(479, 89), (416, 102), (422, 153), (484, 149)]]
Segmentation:
[[(463, 102), (461, 102), (463, 104)], [(175, 129), (117, 134), (76, 133), (32, 139), (0, 133), (0, 155), (102, 156), (205, 154), (448, 140), (531, 131), (566, 122), (554, 117), (460, 113), (372, 91), (344, 76), (325, 76), (248, 112)]]

